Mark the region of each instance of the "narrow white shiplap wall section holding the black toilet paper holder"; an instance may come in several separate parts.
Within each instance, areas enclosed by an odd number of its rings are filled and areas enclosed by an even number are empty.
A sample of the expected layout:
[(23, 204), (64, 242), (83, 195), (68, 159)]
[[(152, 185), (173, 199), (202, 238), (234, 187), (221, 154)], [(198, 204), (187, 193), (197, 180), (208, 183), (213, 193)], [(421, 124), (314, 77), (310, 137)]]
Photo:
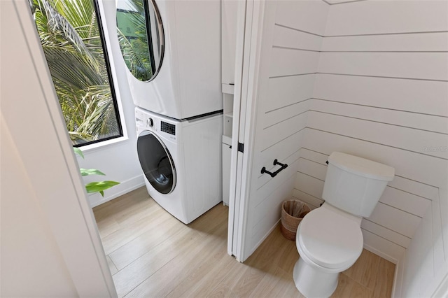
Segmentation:
[[(266, 1), (245, 257), (278, 222), (281, 202), (293, 195), (327, 13), (323, 1)], [(279, 169), (274, 159), (288, 168), (274, 178), (262, 175), (263, 166)]]

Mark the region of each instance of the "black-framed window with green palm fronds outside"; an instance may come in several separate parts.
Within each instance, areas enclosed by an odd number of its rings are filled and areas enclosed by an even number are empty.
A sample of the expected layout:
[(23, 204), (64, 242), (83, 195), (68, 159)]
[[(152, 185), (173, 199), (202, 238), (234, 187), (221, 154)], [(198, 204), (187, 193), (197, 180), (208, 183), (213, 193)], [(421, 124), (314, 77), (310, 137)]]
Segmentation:
[(73, 146), (123, 136), (97, 1), (30, 5)]

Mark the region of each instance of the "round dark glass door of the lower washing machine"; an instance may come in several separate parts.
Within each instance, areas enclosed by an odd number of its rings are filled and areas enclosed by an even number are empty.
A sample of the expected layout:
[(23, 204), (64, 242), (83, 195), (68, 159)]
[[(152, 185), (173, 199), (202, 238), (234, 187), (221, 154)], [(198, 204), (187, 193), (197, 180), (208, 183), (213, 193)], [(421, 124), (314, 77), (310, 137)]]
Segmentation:
[(176, 187), (176, 168), (167, 146), (152, 132), (142, 132), (137, 139), (141, 169), (149, 183), (162, 194)]

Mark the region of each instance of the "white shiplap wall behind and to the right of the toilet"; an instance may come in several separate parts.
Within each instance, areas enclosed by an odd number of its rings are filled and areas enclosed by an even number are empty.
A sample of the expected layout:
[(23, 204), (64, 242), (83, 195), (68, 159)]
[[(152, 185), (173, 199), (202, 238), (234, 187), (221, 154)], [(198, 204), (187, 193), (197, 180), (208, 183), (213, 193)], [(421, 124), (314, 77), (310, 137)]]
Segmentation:
[(447, 270), (448, 2), (328, 6), (293, 195), (321, 204), (333, 151), (395, 167), (365, 247), (400, 261), (395, 296), (428, 295)]

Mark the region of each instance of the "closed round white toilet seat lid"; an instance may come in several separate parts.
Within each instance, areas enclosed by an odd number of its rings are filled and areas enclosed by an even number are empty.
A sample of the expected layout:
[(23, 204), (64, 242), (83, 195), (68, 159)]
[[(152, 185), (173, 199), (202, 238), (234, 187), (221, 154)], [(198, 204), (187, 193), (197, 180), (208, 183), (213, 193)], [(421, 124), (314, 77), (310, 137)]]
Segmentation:
[(358, 260), (363, 234), (358, 221), (333, 208), (321, 207), (308, 213), (297, 229), (296, 243), (312, 262), (343, 271)]

